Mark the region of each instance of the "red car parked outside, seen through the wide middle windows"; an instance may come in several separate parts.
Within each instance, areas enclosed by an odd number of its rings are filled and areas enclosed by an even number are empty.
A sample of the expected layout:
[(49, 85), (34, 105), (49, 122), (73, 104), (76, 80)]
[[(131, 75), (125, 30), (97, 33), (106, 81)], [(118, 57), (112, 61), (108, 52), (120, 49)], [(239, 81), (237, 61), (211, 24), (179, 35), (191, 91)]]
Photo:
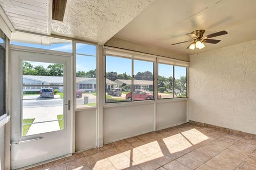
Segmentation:
[[(161, 95), (158, 95), (158, 98), (161, 98)], [(132, 92), (129, 92), (126, 94), (125, 99), (128, 101), (132, 100)], [(151, 100), (154, 99), (154, 96), (152, 93), (145, 91), (145, 90), (135, 90), (133, 92), (133, 99), (134, 100)]]

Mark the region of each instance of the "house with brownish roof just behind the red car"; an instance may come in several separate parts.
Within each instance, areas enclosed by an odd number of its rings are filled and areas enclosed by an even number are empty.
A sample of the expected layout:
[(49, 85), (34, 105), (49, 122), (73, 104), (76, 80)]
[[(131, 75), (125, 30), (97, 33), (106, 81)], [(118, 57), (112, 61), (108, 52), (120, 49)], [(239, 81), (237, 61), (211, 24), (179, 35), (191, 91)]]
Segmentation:
[[(153, 80), (133, 80), (134, 81), (134, 89), (135, 90), (153, 90)], [(132, 80), (123, 80), (117, 79), (115, 80), (117, 88), (123, 88), (123, 85), (132, 87)]]

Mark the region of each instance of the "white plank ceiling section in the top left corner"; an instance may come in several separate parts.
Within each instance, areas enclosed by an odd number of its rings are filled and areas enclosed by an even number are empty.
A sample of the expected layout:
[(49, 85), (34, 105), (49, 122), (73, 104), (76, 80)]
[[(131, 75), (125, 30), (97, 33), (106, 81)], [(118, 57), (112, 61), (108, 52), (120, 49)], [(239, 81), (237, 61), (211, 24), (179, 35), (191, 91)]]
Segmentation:
[(0, 0), (15, 30), (50, 35), (50, 0)]

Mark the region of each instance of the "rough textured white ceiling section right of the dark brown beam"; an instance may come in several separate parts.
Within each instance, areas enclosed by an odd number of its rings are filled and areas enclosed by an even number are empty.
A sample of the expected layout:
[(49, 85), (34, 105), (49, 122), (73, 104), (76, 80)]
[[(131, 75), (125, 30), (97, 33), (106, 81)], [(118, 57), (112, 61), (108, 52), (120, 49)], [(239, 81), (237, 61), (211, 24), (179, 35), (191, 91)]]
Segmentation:
[(63, 22), (52, 20), (55, 35), (104, 44), (155, 0), (68, 0)]

